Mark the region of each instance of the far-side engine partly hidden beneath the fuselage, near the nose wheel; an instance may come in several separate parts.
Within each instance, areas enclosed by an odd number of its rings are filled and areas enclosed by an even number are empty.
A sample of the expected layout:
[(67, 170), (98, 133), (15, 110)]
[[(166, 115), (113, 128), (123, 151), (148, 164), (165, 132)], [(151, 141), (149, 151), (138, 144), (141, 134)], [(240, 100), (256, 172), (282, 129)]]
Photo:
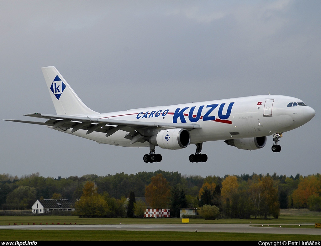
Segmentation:
[(228, 139), (224, 141), (230, 146), (235, 146), (239, 149), (254, 150), (263, 148), (266, 144), (265, 137), (256, 137), (256, 138), (238, 138), (238, 139)]

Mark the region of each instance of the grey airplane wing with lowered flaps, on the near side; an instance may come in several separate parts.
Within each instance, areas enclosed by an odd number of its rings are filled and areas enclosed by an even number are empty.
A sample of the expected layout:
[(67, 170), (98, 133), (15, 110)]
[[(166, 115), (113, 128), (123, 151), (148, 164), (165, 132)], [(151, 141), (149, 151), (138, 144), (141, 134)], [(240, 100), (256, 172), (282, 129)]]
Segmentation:
[(47, 115), (40, 113), (27, 114), (24, 116), (36, 117), (47, 119), (46, 122), (36, 121), (22, 121), (22, 120), (6, 120), (21, 123), (30, 123), (38, 125), (51, 126), (52, 129), (60, 128), (63, 131), (72, 128), (71, 133), (80, 129), (86, 130), (86, 134), (98, 131), (106, 133), (106, 137), (114, 134), (118, 130), (127, 131), (128, 134), (125, 138), (132, 140), (131, 144), (139, 141), (145, 142), (148, 137), (144, 135), (143, 128), (182, 128), (191, 131), (196, 128), (201, 128), (199, 124), (190, 123), (159, 123), (159, 122), (140, 122), (140, 121), (127, 121), (116, 119), (100, 119), (90, 117), (68, 116), (68, 115)]

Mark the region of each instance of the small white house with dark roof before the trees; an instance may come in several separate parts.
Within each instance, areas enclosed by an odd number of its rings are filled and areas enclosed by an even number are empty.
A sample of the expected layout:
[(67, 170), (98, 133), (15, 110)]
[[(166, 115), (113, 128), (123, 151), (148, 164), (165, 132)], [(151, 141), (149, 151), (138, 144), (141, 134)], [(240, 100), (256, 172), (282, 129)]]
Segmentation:
[(54, 210), (58, 211), (75, 211), (75, 202), (67, 199), (44, 199), (37, 200), (31, 207), (31, 213), (42, 214)]

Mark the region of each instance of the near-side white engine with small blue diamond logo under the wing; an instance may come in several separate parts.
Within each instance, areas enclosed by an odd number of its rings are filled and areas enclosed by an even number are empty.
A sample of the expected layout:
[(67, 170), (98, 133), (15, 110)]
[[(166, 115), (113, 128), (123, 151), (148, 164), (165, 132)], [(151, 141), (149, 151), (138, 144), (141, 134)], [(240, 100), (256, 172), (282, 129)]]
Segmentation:
[(186, 129), (174, 128), (159, 131), (152, 136), (150, 142), (160, 148), (181, 149), (186, 148), (191, 140), (189, 131)]

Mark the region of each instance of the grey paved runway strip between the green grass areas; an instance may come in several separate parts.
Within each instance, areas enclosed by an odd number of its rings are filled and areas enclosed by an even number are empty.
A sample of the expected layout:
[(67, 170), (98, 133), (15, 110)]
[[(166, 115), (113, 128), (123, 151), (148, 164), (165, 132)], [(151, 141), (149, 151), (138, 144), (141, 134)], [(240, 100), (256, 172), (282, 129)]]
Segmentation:
[(13, 230), (116, 230), (116, 231), (179, 231), (321, 235), (320, 228), (285, 228), (248, 224), (171, 224), (171, 225), (1, 225)]

